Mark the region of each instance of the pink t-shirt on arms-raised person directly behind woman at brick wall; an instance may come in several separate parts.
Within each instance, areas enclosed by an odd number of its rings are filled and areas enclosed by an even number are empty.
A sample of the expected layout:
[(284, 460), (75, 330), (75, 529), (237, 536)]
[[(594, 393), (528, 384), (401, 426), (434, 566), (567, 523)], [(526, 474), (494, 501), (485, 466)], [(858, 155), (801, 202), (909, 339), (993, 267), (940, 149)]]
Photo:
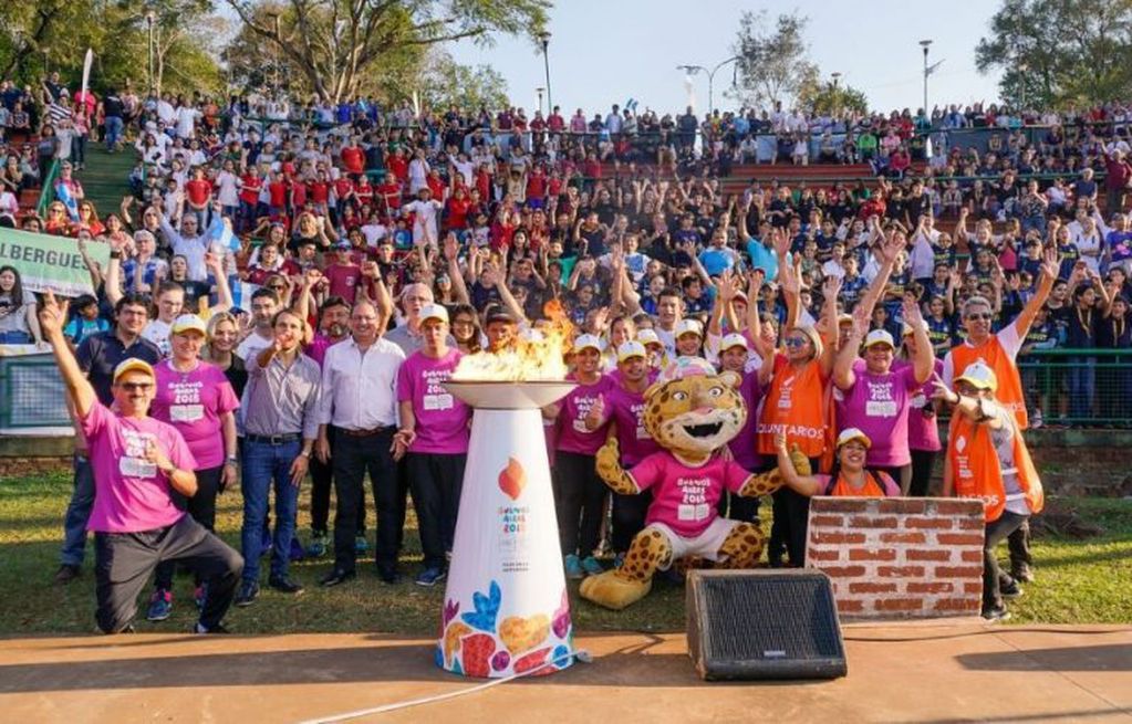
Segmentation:
[(841, 429), (858, 428), (872, 440), (867, 465), (908, 465), (912, 460), (908, 451), (908, 410), (912, 391), (920, 387), (915, 370), (893, 365), (887, 374), (873, 374), (864, 360), (857, 360), (852, 371), (857, 381), (842, 390)]

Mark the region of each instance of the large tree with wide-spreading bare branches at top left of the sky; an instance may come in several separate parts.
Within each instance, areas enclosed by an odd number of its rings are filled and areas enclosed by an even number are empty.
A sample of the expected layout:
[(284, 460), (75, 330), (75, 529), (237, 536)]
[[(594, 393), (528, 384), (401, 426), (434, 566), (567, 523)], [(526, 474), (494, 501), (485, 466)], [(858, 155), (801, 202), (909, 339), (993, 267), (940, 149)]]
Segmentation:
[(375, 68), (406, 52), (492, 33), (534, 36), (549, 0), (226, 0), (243, 26), (288, 57), (320, 98), (358, 94)]

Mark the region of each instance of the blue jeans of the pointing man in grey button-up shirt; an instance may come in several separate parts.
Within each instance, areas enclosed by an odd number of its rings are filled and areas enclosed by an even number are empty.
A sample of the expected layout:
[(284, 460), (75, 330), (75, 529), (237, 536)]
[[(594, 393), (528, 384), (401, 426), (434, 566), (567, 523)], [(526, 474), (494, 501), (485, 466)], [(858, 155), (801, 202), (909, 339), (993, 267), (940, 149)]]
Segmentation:
[(243, 554), (243, 580), (259, 579), (259, 555), (263, 545), (267, 498), (275, 488), (275, 535), (272, 538), (272, 578), (286, 576), (291, 561), (291, 538), (299, 508), (299, 486), (291, 484), (291, 464), (299, 456), (302, 442), (282, 445), (243, 442), (243, 526), (240, 546)]

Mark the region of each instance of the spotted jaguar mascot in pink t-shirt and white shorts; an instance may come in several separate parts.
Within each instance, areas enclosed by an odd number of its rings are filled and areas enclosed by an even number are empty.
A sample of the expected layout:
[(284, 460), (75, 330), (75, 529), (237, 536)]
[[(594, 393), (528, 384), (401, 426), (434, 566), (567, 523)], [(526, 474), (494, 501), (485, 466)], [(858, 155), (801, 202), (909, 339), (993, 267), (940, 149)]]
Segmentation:
[[(757, 562), (762, 531), (722, 518), (717, 509), (724, 491), (755, 498), (782, 485), (777, 469), (752, 475), (720, 454), (748, 414), (739, 382), (736, 373), (718, 373), (700, 357), (678, 357), (645, 391), (644, 426), (664, 449), (631, 471), (619, 463), (615, 438), (598, 451), (598, 474), (614, 492), (649, 490), (652, 503), (621, 567), (582, 581), (584, 598), (624, 609), (648, 595), (658, 569), (681, 559), (702, 558), (717, 568), (752, 568)], [(800, 475), (809, 474), (800, 453), (791, 458)]]

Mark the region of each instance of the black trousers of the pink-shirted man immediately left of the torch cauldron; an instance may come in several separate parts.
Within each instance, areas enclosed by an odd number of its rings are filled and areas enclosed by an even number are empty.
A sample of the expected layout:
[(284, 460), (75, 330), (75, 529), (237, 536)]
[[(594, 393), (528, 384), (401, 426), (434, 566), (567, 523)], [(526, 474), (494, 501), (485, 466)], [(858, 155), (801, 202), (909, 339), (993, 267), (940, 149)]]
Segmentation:
[(444, 554), (452, 550), (456, 536), (456, 514), (466, 463), (468, 455), (463, 453), (410, 453), (405, 456), (405, 476), (413, 493), (424, 568), (445, 568)]

